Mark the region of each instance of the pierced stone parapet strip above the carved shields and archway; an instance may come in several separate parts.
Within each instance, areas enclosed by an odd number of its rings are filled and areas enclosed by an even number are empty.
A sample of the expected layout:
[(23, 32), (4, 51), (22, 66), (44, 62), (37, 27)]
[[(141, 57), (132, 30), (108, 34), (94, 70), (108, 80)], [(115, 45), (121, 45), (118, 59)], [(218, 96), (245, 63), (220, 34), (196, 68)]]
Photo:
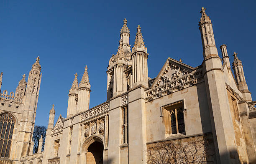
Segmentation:
[(105, 103), (101, 106), (98, 106), (96, 108), (90, 109), (89, 111), (85, 112), (84, 114), (81, 115), (81, 121), (85, 119), (89, 119), (93, 116), (97, 116), (99, 114), (102, 114), (105, 111), (109, 110), (109, 103)]

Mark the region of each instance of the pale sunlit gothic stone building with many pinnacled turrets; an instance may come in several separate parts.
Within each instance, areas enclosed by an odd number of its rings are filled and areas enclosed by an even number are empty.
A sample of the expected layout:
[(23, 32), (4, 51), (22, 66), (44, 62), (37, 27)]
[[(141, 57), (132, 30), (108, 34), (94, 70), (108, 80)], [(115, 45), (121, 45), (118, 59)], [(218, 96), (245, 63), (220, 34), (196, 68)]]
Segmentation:
[(2, 161), (146, 164), (150, 163), (151, 148), (204, 139), (208, 146), (200, 151), (207, 149), (206, 163), (253, 163), (256, 101), (248, 91), (237, 53), (233, 55), (233, 75), (226, 45), (220, 46), (220, 58), (211, 20), (205, 8), (201, 13), (202, 64), (194, 68), (168, 58), (153, 79), (148, 77), (149, 55), (141, 27), (137, 28), (131, 48), (130, 31), (124, 20), (118, 52), (108, 63), (107, 101), (89, 108), (87, 67), (80, 83), (75, 74), (68, 94), (67, 118), (59, 116), (54, 125), (54, 106), (51, 108), (44, 151), (33, 154), (31, 137), (41, 81), (37, 58), (28, 84), (23, 76), (15, 95), (1, 93), (0, 156), (6, 157)]

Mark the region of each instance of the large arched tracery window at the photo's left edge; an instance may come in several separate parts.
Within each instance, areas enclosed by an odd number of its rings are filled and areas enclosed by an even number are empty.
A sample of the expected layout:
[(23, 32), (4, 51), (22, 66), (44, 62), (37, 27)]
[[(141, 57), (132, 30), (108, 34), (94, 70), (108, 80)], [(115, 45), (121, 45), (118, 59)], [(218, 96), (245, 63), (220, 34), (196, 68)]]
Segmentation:
[(0, 157), (9, 157), (15, 119), (8, 113), (0, 115)]

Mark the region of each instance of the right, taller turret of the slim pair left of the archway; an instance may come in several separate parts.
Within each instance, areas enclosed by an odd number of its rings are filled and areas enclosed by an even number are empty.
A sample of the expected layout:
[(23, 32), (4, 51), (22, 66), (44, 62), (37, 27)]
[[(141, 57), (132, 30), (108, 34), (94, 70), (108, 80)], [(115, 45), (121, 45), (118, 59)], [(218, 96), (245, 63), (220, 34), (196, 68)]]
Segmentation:
[(89, 76), (87, 72), (87, 66), (84, 67), (84, 74), (78, 87), (78, 102), (77, 102), (77, 113), (81, 111), (87, 111), (90, 104), (90, 92), (91, 85), (89, 83)]

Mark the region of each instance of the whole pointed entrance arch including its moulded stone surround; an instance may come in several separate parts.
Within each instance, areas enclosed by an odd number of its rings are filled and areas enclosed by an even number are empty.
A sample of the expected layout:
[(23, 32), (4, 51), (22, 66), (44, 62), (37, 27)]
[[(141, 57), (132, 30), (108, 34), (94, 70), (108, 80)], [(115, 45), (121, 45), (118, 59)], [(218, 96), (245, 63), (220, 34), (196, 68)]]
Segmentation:
[(100, 135), (90, 136), (82, 144), (81, 164), (103, 164), (104, 139)]

